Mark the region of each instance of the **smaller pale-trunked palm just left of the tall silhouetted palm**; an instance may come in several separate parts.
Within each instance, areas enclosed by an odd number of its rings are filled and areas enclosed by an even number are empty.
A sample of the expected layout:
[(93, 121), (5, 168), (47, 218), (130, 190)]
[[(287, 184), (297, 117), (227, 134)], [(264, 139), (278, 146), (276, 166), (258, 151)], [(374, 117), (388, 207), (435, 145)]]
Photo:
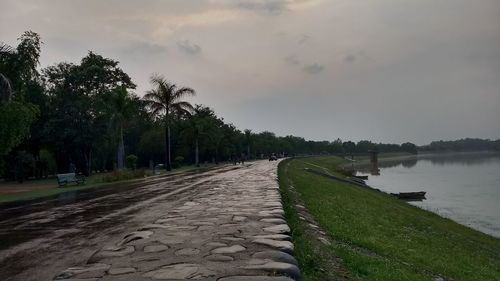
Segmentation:
[(123, 142), (123, 126), (130, 118), (133, 110), (133, 99), (125, 86), (116, 87), (110, 95), (111, 118), (110, 121), (118, 126), (119, 140), (117, 150), (117, 168), (123, 169), (125, 163), (125, 144)]

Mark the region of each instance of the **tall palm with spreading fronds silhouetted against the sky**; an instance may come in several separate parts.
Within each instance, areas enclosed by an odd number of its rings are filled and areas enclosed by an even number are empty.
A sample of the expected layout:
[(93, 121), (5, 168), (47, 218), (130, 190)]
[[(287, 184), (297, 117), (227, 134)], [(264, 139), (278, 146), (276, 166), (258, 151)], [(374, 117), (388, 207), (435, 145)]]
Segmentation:
[(144, 96), (151, 113), (161, 119), (165, 125), (165, 146), (166, 146), (166, 168), (172, 170), (170, 155), (170, 124), (173, 115), (182, 116), (193, 111), (193, 106), (183, 101), (182, 98), (188, 95), (195, 95), (195, 91), (188, 87), (177, 87), (168, 82), (164, 76), (153, 74), (151, 76), (153, 89)]

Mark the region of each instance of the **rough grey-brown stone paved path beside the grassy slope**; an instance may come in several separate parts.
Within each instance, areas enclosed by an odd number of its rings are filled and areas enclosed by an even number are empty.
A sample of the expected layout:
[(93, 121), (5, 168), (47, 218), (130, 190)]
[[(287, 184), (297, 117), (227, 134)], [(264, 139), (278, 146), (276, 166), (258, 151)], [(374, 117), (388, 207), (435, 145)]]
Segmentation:
[(216, 175), (54, 280), (299, 280), (276, 170), (260, 161)]

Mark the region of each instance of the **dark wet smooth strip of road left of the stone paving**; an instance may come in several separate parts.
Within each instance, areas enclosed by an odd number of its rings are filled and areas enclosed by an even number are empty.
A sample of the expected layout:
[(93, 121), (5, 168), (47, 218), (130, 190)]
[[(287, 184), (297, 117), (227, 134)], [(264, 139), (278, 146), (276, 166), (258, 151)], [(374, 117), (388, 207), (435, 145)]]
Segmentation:
[[(48, 199), (0, 204), (0, 251), (44, 237), (60, 228), (92, 223), (100, 216), (112, 214), (201, 178), (236, 168), (238, 167), (229, 166), (182, 175), (156, 176), (61, 193)], [(0, 252), (0, 258), (2, 257)]]

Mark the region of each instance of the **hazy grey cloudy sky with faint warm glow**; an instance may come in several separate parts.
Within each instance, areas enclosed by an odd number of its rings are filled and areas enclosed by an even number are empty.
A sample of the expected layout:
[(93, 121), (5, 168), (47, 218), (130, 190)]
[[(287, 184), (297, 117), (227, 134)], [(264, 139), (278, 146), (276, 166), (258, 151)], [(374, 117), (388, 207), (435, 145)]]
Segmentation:
[(41, 67), (89, 50), (189, 86), (240, 129), (312, 140), (500, 138), (498, 0), (0, 0)]

